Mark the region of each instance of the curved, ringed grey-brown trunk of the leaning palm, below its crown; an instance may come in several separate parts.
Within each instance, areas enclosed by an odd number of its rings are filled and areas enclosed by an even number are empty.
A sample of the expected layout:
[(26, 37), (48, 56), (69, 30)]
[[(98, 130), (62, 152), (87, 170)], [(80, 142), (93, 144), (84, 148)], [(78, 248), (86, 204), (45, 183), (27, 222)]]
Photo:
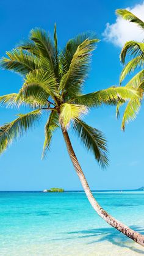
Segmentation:
[(108, 224), (112, 227), (123, 233), (124, 235), (128, 236), (138, 244), (144, 246), (144, 236), (140, 233), (135, 232), (134, 230), (130, 229), (128, 226), (124, 225), (117, 219), (113, 218), (109, 213), (107, 213), (99, 204), (96, 202), (95, 197), (93, 196), (92, 192), (90, 191), (90, 187), (88, 186), (87, 180), (85, 178), (84, 173), (82, 172), (81, 166), (76, 158), (74, 153), (73, 147), (71, 145), (70, 137), (68, 136), (68, 132), (63, 130), (62, 128), (63, 137), (65, 139), (65, 143), (67, 145), (67, 150), (70, 155), (71, 161), (73, 163), (74, 169), (81, 181), (82, 187), (84, 188), (85, 194), (87, 195), (88, 201), (91, 203), (94, 210), (103, 218)]

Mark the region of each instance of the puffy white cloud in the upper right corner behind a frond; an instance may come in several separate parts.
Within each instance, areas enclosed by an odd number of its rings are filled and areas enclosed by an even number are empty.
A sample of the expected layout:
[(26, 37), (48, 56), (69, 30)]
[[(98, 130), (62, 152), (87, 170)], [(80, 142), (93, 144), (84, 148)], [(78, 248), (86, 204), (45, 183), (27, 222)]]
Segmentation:
[[(128, 7), (126, 9), (144, 21), (144, 1), (142, 4), (137, 4), (132, 8)], [(129, 21), (118, 17), (115, 23), (111, 25), (109, 23), (106, 24), (103, 37), (107, 42), (111, 42), (113, 45), (123, 47), (124, 43), (130, 40), (142, 42), (144, 32), (136, 24), (130, 23)]]

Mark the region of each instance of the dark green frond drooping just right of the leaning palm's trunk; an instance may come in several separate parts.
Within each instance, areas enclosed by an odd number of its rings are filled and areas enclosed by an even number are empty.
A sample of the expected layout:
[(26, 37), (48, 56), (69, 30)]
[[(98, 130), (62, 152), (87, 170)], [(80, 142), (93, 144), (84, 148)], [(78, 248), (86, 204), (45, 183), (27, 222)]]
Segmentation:
[(103, 133), (80, 119), (75, 120), (73, 130), (81, 139), (84, 147), (93, 152), (98, 163), (106, 167), (108, 165), (107, 144)]

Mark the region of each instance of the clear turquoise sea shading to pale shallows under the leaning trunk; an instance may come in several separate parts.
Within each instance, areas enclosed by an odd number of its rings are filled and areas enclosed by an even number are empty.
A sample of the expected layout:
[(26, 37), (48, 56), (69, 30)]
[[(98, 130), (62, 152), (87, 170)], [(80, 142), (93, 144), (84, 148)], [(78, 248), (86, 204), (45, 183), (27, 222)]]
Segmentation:
[[(115, 218), (144, 234), (144, 192), (94, 192)], [(83, 192), (0, 192), (0, 255), (144, 255), (111, 228)]]

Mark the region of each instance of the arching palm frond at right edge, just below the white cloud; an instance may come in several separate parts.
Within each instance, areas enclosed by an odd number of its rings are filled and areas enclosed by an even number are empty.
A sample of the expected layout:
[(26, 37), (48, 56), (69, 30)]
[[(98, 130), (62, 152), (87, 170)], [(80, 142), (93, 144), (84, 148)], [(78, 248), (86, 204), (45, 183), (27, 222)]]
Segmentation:
[(120, 60), (124, 64), (126, 54), (133, 55), (134, 57), (144, 57), (144, 43), (139, 43), (135, 41), (126, 42), (123, 49), (121, 50)]

